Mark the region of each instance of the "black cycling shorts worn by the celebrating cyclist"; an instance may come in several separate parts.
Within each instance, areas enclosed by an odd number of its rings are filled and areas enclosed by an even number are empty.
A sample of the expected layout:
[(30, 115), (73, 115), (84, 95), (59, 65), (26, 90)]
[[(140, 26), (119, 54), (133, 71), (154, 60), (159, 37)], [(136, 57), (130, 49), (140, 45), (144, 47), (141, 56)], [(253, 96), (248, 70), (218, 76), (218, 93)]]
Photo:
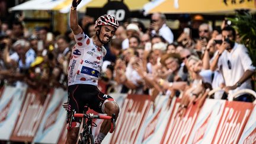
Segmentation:
[[(104, 106), (107, 101), (114, 101), (112, 97), (103, 94), (95, 85), (77, 84), (68, 87), (68, 116), (71, 111), (83, 113), (85, 104), (97, 113), (105, 113)], [(81, 122), (81, 119), (75, 119), (76, 122)]]

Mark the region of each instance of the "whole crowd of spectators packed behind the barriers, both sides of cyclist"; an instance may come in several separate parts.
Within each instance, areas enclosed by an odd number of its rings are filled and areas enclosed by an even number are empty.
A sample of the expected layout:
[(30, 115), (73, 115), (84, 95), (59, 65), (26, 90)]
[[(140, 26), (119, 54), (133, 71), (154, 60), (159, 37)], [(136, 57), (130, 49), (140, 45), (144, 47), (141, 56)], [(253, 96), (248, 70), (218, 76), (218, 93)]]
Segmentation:
[[(95, 33), (94, 18), (85, 16), (81, 27), (88, 36)], [(67, 88), (67, 71), (73, 34), (51, 33), (46, 27), (27, 33), (17, 21), (9, 27), (0, 22), (1, 85), (28, 87), (44, 95), (53, 87)], [(145, 27), (137, 18), (123, 23), (113, 40), (105, 45), (101, 82), (107, 92), (158, 94), (180, 97), (181, 109), (203, 101), (207, 89), (222, 88), (212, 98), (226, 99), (239, 89), (251, 86), (255, 72), (247, 48), (239, 44), (239, 35), (223, 22), (220, 27), (204, 21), (200, 15), (192, 23), (180, 23), (172, 33), (164, 14), (152, 14)], [(248, 95), (239, 101), (254, 101)]]

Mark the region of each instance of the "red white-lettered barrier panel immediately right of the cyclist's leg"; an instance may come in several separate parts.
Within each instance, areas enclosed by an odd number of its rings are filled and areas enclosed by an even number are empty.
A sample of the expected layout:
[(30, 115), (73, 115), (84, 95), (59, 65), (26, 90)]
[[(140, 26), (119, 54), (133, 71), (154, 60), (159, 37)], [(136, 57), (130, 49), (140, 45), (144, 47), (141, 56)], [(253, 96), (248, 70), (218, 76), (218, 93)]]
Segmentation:
[(151, 100), (149, 95), (128, 95), (124, 100), (110, 143), (135, 143), (146, 115), (149, 112)]

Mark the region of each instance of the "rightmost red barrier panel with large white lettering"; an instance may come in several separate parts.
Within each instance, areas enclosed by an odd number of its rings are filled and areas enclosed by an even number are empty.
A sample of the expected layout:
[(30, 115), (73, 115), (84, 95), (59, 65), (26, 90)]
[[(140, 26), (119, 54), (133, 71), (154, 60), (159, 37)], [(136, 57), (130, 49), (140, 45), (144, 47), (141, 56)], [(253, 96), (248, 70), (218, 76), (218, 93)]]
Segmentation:
[(238, 143), (252, 107), (252, 103), (226, 101), (212, 143)]

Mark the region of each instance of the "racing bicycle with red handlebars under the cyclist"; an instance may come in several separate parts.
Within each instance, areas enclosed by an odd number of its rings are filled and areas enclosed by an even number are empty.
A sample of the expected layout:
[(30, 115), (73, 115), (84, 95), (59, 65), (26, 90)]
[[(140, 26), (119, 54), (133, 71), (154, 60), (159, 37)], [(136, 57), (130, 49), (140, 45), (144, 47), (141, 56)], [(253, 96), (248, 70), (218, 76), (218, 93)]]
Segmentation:
[[(113, 114), (111, 116), (103, 116), (103, 115), (94, 115), (87, 114), (88, 104), (85, 105), (83, 113), (75, 113), (75, 110), (72, 111), (71, 117), (74, 119), (75, 117), (84, 118), (82, 124), (82, 132), (79, 133), (78, 144), (94, 144), (94, 136), (92, 135), (92, 127), (97, 127), (92, 120), (94, 119), (104, 119), (111, 120), (111, 129), (110, 133), (113, 133), (116, 129), (116, 115)], [(69, 127), (71, 127), (72, 119), (69, 121)]]

